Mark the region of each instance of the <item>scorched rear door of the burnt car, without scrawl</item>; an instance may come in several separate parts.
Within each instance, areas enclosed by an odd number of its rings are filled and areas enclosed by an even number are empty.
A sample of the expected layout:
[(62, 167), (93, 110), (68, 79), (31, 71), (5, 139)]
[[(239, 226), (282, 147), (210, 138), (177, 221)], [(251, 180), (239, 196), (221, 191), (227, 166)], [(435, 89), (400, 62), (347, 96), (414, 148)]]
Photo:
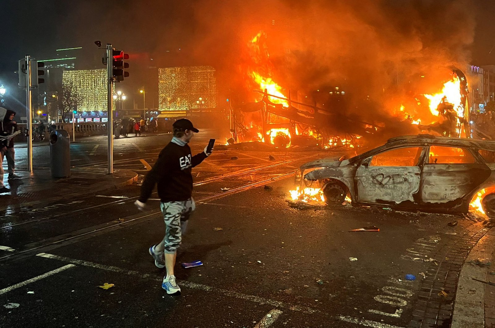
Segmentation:
[(461, 202), (491, 174), (468, 148), (432, 145), (421, 174), (421, 203), (450, 207)]

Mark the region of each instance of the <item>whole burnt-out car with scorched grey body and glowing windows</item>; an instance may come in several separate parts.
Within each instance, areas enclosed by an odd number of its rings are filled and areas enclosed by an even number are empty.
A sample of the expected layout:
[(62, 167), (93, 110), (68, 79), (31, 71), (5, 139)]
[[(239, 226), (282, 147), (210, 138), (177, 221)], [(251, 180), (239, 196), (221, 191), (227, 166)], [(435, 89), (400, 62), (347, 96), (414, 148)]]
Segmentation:
[(495, 214), (495, 141), (429, 134), (389, 139), (350, 159), (301, 165), (303, 187), (322, 188), (328, 204), (380, 205), (409, 210), (467, 212), (485, 189), (483, 207)]

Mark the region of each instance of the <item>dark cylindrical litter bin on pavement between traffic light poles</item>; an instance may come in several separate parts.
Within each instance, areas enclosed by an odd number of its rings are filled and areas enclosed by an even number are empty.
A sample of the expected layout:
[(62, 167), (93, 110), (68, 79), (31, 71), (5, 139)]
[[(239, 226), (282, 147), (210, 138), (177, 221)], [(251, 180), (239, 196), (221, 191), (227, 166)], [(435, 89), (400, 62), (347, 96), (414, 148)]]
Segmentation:
[(70, 137), (65, 130), (50, 133), (50, 172), (55, 178), (70, 176)]

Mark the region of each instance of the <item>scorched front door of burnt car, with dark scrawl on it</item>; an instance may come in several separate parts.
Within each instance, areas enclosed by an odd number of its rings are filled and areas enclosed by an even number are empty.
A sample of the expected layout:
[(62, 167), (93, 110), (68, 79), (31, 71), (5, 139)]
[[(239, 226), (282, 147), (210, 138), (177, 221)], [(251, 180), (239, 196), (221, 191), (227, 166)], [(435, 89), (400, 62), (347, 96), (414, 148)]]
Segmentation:
[[(426, 147), (400, 147), (375, 154), (361, 162), (354, 184), (358, 203), (407, 205), (417, 203), (420, 160)], [(404, 205), (405, 205), (404, 204)]]

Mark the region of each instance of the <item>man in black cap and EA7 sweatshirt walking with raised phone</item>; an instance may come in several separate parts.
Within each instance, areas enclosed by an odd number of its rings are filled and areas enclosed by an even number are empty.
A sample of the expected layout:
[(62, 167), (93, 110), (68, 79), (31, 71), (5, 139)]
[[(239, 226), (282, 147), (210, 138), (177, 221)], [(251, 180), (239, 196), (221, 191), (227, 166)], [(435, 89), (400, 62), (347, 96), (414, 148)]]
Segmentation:
[(173, 124), (174, 136), (158, 155), (158, 160), (145, 177), (141, 187), (141, 197), (135, 202), (143, 210), (151, 195), (155, 183), (158, 184), (160, 209), (165, 221), (165, 237), (149, 247), (149, 254), (158, 268), (165, 267), (167, 275), (161, 287), (167, 294), (180, 293), (174, 275), (177, 248), (181, 244), (182, 233), (185, 232), (189, 216), (196, 208), (193, 198), (193, 175), (191, 169), (200, 164), (211, 153), (204, 151), (191, 156), (188, 143), (195, 132), (199, 132), (187, 119), (177, 120)]

